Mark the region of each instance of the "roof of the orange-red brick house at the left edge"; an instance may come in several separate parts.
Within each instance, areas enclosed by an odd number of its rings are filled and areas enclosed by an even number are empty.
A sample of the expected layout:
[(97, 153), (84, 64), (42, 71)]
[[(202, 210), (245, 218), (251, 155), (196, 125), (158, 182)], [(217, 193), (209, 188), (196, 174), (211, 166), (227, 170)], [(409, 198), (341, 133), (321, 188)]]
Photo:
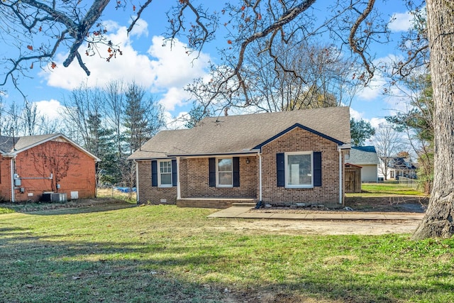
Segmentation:
[(17, 155), (18, 153), (23, 152), (24, 150), (28, 150), (29, 148), (33, 148), (36, 145), (40, 145), (47, 141), (57, 140), (60, 139), (67, 143), (70, 143), (78, 150), (81, 150), (83, 153), (89, 155), (89, 157), (94, 158), (96, 161), (101, 161), (92, 153), (89, 153), (88, 150), (85, 150), (77, 143), (74, 143), (70, 138), (67, 138), (65, 135), (61, 133), (52, 133), (48, 135), (38, 135), (38, 136), (23, 136), (23, 137), (7, 137), (7, 136), (0, 136), (0, 154), (2, 155)]

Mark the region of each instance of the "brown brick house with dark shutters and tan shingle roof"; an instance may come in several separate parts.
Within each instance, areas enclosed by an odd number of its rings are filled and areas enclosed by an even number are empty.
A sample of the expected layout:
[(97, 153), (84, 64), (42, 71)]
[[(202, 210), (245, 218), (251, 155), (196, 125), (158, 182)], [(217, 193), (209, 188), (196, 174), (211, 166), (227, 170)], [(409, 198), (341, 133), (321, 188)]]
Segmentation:
[(348, 107), (210, 117), (160, 131), (129, 160), (138, 203), (343, 204)]

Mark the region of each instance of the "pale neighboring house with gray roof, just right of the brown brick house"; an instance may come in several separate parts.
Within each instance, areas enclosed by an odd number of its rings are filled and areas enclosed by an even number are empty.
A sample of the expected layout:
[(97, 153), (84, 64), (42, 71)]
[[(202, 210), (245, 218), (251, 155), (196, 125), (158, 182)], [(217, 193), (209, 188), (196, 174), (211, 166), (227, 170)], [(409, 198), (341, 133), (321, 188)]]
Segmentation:
[(361, 182), (377, 182), (380, 158), (375, 146), (353, 146), (348, 163), (361, 167)]

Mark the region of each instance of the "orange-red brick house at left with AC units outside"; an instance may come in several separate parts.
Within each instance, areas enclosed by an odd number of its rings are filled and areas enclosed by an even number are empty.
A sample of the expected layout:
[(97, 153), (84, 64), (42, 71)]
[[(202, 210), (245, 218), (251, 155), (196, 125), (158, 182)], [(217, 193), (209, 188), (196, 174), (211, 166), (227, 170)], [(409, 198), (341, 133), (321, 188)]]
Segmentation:
[(36, 202), (45, 192), (95, 197), (96, 161), (62, 134), (0, 136), (0, 201)]

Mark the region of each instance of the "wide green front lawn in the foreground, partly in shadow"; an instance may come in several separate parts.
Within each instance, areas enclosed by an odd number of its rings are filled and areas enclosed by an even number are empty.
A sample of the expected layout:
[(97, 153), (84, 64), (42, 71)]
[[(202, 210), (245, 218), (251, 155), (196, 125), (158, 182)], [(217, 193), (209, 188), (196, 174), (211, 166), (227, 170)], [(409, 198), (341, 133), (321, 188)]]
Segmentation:
[(454, 301), (450, 239), (261, 234), (175, 206), (77, 211), (0, 215), (0, 302)]

